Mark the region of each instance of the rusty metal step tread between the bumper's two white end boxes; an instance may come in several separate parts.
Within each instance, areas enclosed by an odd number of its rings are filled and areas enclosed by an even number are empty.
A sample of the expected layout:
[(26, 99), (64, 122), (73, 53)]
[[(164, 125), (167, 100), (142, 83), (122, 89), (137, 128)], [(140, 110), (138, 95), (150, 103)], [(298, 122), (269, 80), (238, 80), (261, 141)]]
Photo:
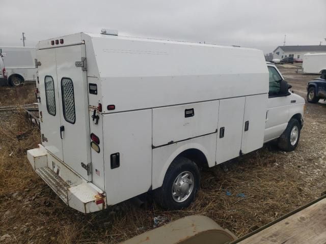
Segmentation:
[(38, 168), (35, 172), (68, 205), (67, 191), (69, 185), (49, 167)]

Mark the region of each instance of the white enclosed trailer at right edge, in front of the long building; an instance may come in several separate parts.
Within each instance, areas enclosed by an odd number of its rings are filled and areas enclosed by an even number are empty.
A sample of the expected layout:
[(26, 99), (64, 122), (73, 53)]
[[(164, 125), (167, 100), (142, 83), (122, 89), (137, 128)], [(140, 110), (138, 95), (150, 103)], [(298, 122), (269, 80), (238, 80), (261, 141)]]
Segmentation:
[(307, 53), (304, 55), (302, 72), (307, 74), (321, 74), (326, 72), (326, 52)]

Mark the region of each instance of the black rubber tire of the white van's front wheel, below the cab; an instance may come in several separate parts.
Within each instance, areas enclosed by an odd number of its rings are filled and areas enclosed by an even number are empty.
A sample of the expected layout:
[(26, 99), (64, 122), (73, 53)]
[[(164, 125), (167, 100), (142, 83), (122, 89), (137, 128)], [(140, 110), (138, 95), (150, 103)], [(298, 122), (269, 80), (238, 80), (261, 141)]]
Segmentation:
[[(297, 129), (297, 139), (296, 142), (293, 145), (291, 143), (291, 132), (292, 129), (296, 127)], [(278, 146), (283, 151), (293, 151), (300, 140), (300, 130), (301, 126), (297, 119), (291, 118), (289, 123), (287, 124), (287, 127), (285, 131), (282, 133), (282, 135), (278, 139)]]

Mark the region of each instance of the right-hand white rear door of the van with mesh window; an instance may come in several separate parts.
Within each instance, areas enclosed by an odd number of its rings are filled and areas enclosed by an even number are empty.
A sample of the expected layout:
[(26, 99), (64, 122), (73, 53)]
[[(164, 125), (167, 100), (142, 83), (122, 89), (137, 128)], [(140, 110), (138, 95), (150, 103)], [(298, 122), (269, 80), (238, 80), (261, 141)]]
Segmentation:
[(63, 160), (85, 179), (92, 175), (82, 166), (91, 162), (87, 73), (75, 62), (85, 57), (85, 45), (56, 48)]

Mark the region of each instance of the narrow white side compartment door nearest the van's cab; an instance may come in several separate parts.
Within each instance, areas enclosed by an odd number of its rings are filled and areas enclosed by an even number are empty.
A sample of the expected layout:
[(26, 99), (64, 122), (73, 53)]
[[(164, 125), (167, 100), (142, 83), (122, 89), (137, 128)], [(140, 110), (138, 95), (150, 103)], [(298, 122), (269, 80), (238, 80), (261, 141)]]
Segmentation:
[[(250, 153), (263, 146), (267, 99), (267, 94), (246, 97), (241, 142), (243, 154)], [(248, 131), (245, 131), (247, 121), (249, 121), (249, 128)]]

